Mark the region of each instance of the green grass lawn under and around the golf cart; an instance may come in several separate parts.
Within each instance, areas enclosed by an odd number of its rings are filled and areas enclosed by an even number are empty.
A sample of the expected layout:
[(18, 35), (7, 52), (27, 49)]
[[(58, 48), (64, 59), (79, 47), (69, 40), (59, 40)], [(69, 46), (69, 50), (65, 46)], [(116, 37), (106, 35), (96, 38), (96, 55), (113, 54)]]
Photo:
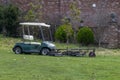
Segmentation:
[[(16, 55), (19, 39), (0, 36), (0, 80), (119, 80), (120, 50), (96, 49), (96, 58)], [(56, 44), (58, 48), (65, 44)], [(69, 45), (69, 47), (77, 47)]]

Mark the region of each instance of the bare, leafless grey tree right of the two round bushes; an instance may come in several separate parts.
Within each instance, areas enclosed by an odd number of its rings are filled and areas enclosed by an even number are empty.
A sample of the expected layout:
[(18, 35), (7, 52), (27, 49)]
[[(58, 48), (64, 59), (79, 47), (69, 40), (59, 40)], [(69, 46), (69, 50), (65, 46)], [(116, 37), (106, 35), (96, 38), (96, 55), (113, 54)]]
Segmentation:
[(106, 4), (108, 0), (99, 1), (99, 4), (96, 5), (95, 11), (96, 15), (94, 15), (94, 22), (96, 24), (96, 41), (98, 42), (98, 46), (101, 46), (101, 43), (105, 40), (106, 35), (105, 31), (107, 30), (107, 25), (109, 23), (109, 12), (106, 11)]

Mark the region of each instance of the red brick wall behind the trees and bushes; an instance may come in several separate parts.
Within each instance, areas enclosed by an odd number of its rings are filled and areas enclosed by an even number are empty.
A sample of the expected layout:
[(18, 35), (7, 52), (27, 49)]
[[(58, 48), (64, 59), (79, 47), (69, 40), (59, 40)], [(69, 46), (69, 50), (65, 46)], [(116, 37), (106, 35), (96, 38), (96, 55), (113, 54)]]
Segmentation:
[[(40, 4), (43, 6), (43, 19), (45, 22), (57, 25), (60, 24), (60, 18), (69, 14), (69, 4), (73, 0), (41, 0)], [(120, 43), (118, 25), (120, 24), (120, 0), (76, 0), (78, 7), (81, 10), (80, 19), (84, 21), (85, 26), (90, 27), (107, 27), (103, 38), (105, 43), (110, 43), (113, 46)], [(13, 3), (17, 5), (22, 11), (27, 11), (30, 8), (29, 3), (35, 0), (0, 0), (1, 4)], [(114, 13), (117, 20), (117, 25), (110, 24), (110, 14)], [(80, 23), (78, 23), (79, 27)], [(115, 27), (116, 26), (116, 27)], [(112, 33), (112, 34), (111, 34)], [(96, 35), (97, 36), (97, 35)], [(116, 36), (116, 37), (115, 37)], [(118, 45), (117, 45), (118, 46)]]

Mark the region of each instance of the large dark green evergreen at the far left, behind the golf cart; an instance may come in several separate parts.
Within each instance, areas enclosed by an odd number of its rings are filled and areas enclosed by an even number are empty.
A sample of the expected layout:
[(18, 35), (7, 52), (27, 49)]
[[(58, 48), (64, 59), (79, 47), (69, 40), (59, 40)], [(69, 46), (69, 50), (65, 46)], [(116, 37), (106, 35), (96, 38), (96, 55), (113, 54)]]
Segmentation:
[(18, 26), (18, 16), (18, 7), (12, 4), (7, 6), (0, 6), (0, 26), (2, 30), (6, 31), (5, 35), (15, 36)]

